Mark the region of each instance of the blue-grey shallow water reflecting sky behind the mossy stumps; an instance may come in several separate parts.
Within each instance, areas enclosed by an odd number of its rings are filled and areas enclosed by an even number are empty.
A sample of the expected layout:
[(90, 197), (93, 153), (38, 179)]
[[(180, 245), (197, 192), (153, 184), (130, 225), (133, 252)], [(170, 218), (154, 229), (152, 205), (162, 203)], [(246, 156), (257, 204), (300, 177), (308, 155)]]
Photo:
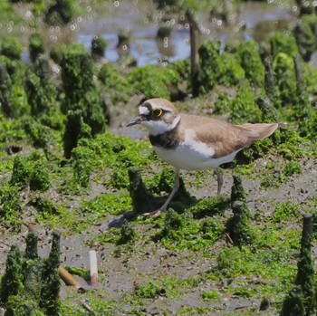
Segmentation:
[[(135, 5), (136, 3), (138, 5)], [(115, 62), (120, 58), (117, 34), (120, 30), (129, 30), (130, 55), (136, 59), (139, 66), (158, 63), (165, 56), (171, 62), (189, 56), (189, 26), (183, 23), (184, 17), (181, 16), (179, 20), (178, 17), (171, 19), (171, 35), (164, 41), (157, 41), (161, 14), (151, 5), (142, 5), (138, 1), (115, 1), (105, 11), (108, 13), (78, 25), (76, 40), (84, 44), (87, 50), (90, 50), (93, 36), (101, 34), (109, 41), (105, 57)], [(211, 20), (208, 13), (197, 14), (203, 38), (219, 39), (224, 43), (252, 38), (261, 41), (268, 32), (282, 29), (295, 19), (296, 6), (286, 5), (283, 1), (270, 4), (243, 3), (240, 13), (235, 16), (235, 24), (232, 25), (225, 25), (221, 20)]]

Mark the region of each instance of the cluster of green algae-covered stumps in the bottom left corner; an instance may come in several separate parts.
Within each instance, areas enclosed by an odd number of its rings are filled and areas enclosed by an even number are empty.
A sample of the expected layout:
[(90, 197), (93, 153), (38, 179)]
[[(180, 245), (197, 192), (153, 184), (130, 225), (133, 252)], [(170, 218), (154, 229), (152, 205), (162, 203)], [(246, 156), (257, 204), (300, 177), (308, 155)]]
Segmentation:
[(55, 316), (60, 311), (60, 234), (53, 233), (49, 257), (37, 254), (37, 235), (26, 237), (23, 253), (13, 245), (6, 260), (5, 274), (0, 283), (0, 305), (7, 316)]

